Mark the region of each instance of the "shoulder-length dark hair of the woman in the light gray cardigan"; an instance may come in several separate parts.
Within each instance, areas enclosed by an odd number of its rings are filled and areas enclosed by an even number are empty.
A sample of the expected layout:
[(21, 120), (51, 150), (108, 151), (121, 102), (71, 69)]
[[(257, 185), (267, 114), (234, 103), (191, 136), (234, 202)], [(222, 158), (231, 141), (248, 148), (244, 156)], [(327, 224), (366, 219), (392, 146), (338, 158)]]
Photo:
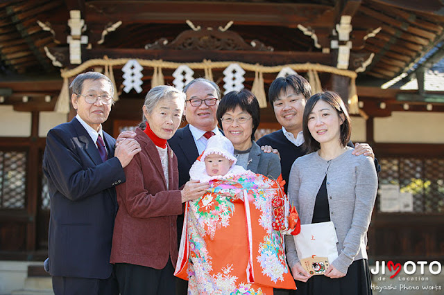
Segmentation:
[(339, 141), (341, 145), (345, 147), (348, 141), (350, 141), (350, 135), (352, 134), (352, 124), (350, 121), (350, 115), (348, 114), (347, 107), (339, 96), (338, 93), (333, 91), (325, 91), (321, 93), (316, 93), (314, 96), (311, 96), (307, 100), (307, 105), (305, 105), (304, 116), (302, 118), (302, 132), (304, 132), (304, 147), (308, 152), (315, 152), (321, 148), (321, 145), (311, 136), (311, 133), (308, 129), (308, 117), (311, 111), (313, 111), (314, 105), (319, 100), (323, 100), (332, 106), (333, 109), (336, 109), (336, 113), (338, 116), (341, 114), (344, 115), (344, 121), (341, 125), (341, 134), (339, 136)]

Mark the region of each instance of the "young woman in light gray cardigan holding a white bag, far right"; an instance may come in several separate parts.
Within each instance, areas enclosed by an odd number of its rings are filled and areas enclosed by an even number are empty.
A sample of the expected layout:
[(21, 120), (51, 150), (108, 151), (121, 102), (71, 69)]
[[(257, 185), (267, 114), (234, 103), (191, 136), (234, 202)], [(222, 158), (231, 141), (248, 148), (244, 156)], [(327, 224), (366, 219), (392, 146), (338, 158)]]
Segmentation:
[(302, 119), (310, 154), (298, 158), (289, 177), (289, 199), (301, 224), (332, 221), (339, 257), (324, 276), (311, 277), (300, 265), (292, 236), (287, 260), (297, 294), (371, 294), (366, 244), (377, 193), (373, 159), (352, 155), (350, 116), (334, 92), (311, 96)]

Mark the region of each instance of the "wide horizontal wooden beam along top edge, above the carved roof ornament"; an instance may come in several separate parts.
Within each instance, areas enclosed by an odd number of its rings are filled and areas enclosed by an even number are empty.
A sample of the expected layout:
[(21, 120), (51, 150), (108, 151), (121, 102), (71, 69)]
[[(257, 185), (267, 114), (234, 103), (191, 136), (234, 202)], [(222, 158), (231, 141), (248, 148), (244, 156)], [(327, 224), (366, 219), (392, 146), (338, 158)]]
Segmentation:
[(107, 24), (172, 23), (183, 24), (187, 19), (199, 25), (207, 21), (227, 20), (235, 24), (288, 26), (311, 21), (331, 6), (300, 3), (237, 3), (198, 1), (88, 1), (85, 3), (85, 21)]

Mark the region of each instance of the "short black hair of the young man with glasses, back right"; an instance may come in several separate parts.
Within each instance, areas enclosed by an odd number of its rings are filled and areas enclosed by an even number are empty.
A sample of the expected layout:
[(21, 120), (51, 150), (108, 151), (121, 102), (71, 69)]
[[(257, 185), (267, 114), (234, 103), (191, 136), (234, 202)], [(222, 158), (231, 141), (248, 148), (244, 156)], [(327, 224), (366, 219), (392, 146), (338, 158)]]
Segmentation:
[(301, 94), (307, 100), (311, 96), (310, 83), (302, 75), (287, 75), (286, 78), (276, 78), (268, 89), (268, 101), (274, 109), (273, 102), (278, 99), (282, 91), (293, 90), (296, 94)]

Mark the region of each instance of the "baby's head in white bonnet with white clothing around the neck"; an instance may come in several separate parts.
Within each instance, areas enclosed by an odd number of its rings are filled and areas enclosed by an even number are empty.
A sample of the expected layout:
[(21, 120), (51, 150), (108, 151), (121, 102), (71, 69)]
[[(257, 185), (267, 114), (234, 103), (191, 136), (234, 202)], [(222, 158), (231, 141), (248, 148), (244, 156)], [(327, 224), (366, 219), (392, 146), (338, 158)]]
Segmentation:
[(222, 135), (210, 137), (200, 159), (191, 166), (189, 176), (194, 180), (210, 181), (248, 174), (250, 171), (234, 165), (237, 159), (233, 153), (234, 147), (228, 138)]

